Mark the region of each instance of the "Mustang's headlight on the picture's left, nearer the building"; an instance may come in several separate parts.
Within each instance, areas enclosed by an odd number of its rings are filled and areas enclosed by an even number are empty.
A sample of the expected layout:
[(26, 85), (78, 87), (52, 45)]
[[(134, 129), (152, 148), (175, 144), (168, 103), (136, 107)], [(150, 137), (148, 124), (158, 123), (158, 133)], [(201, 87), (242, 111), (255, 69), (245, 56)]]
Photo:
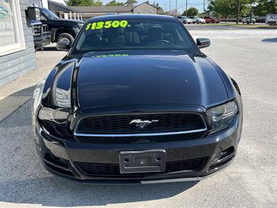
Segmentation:
[(51, 121), (61, 125), (66, 123), (68, 116), (69, 112), (66, 112), (66, 110), (62, 108), (51, 109), (48, 107), (42, 107), (38, 115), (39, 119), (42, 121)]

